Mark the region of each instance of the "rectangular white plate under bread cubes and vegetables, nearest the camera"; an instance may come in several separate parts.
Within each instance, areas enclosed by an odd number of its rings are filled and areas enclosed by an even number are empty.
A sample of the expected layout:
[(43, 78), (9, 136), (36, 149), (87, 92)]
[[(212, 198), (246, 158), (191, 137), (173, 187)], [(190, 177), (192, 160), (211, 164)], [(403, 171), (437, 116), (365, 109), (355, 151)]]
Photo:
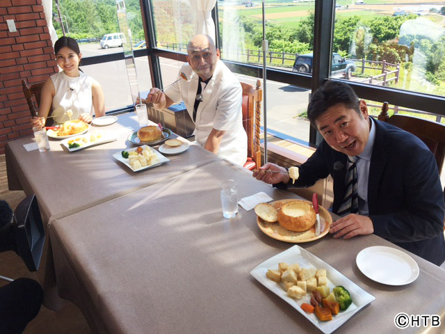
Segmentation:
[[(337, 285), (343, 285), (345, 289), (350, 293), (353, 303), (344, 311), (341, 311), (338, 315), (332, 317), (331, 321), (320, 321), (314, 313), (309, 314), (302, 310), (302, 303), (310, 303), (310, 294), (307, 294), (302, 299), (293, 299), (287, 296), (282, 286), (279, 283), (275, 283), (266, 277), (268, 269), (278, 269), (278, 263), (286, 262), (288, 264), (298, 263), (300, 268), (314, 268), (314, 269), (326, 269), (327, 286), (332, 290)], [(344, 324), (350, 317), (355, 315), (365, 305), (368, 305), (375, 299), (375, 297), (368, 292), (364, 291), (361, 287), (353, 283), (352, 280), (343, 276), (339, 271), (332, 268), (329, 264), (320, 260), (318, 257), (309, 253), (304, 248), (296, 245), (284, 252), (270, 257), (269, 260), (259, 264), (255, 269), (250, 271), (250, 274), (256, 278), (259, 283), (267, 287), (271, 292), (279, 296), (281, 299), (289, 303), (293, 308), (298, 310), (304, 317), (314, 324), (323, 333), (332, 333), (342, 324)]]

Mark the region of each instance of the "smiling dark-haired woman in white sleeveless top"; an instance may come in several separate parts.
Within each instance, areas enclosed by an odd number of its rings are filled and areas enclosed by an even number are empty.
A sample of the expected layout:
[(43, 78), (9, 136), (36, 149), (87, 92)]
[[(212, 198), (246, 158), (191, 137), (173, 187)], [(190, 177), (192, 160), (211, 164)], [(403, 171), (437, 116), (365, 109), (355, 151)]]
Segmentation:
[(33, 118), (33, 126), (44, 126), (49, 109), (53, 108), (54, 122), (60, 124), (71, 119), (92, 122), (105, 115), (104, 92), (100, 84), (79, 70), (81, 51), (77, 42), (70, 37), (59, 38), (54, 45), (57, 64), (63, 70), (51, 75), (44, 82), (40, 93), (38, 118)]

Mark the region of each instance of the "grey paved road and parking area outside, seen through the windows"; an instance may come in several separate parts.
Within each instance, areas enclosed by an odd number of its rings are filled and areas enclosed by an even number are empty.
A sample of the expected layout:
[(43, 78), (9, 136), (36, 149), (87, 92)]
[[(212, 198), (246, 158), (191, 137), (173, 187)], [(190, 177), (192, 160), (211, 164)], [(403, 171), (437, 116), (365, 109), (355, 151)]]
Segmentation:
[[(101, 49), (99, 44), (82, 44), (80, 48), (84, 58), (122, 52), (122, 47)], [(147, 57), (138, 57), (134, 61), (138, 74), (139, 91), (149, 90), (152, 87), (152, 82)], [(182, 62), (161, 58), (160, 63), (163, 83), (164, 86), (167, 86), (175, 81)], [(107, 111), (133, 104), (129, 76), (124, 61), (81, 66), (81, 69), (102, 85)], [(243, 74), (235, 75), (240, 81), (252, 86), (256, 85), (257, 78)], [(262, 84), (261, 80), (261, 86)], [(307, 109), (309, 90), (270, 80), (267, 81), (266, 90), (268, 129), (309, 141), (309, 122), (296, 118), (298, 114)], [(263, 115), (261, 115), (261, 120), (263, 119)]]

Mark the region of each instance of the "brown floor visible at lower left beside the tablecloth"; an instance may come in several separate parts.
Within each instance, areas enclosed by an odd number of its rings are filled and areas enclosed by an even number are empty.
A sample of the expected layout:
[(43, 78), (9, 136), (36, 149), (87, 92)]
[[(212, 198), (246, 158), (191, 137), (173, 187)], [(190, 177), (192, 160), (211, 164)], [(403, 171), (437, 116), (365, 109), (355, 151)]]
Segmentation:
[[(11, 208), (25, 198), (23, 191), (8, 191), (5, 155), (0, 155), (0, 200), (6, 200)], [(13, 251), (0, 253), (0, 275), (8, 278), (27, 277), (38, 280), (36, 273), (30, 273), (22, 259)], [(0, 280), (0, 286), (8, 284)], [(1, 302), (1, 301), (0, 301)], [(66, 302), (57, 312), (42, 305), (40, 313), (26, 327), (24, 334), (90, 334), (92, 331), (78, 308)]]

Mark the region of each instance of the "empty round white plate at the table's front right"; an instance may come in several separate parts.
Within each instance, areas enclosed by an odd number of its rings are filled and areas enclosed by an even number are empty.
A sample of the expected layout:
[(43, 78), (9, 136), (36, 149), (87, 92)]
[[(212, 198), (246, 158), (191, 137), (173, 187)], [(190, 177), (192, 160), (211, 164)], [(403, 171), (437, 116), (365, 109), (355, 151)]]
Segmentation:
[(385, 246), (364, 248), (355, 259), (365, 276), (386, 285), (405, 285), (419, 276), (419, 266), (407, 253)]

